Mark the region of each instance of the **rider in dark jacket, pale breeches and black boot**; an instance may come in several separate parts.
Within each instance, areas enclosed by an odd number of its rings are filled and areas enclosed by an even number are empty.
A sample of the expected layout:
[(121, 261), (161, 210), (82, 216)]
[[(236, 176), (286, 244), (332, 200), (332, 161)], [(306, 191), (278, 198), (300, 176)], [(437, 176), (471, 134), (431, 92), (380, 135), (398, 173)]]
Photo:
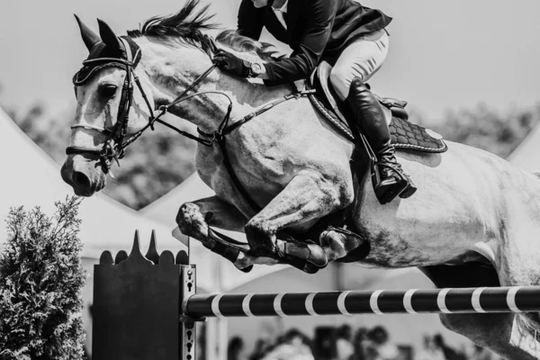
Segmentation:
[[(398, 195), (410, 197), (416, 187), (396, 160), (383, 108), (365, 84), (386, 58), (389, 39), (384, 28), (391, 21), (383, 12), (352, 0), (242, 0), (238, 33), (258, 40), (266, 27), (293, 54), (258, 64), (220, 49), (213, 61), (236, 76), (262, 78), (266, 85), (307, 78), (322, 59), (328, 61), (334, 66), (331, 84), (351, 108), (357, 130), (377, 157), (380, 181), (374, 182), (375, 195), (381, 203), (392, 202)], [(360, 145), (358, 139), (356, 147)]]

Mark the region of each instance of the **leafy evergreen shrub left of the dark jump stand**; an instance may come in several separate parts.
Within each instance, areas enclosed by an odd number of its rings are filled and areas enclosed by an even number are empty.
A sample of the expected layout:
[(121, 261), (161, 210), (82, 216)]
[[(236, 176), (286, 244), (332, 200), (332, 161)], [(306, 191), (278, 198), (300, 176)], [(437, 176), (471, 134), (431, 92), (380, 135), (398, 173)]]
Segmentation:
[(82, 358), (79, 203), (56, 202), (50, 218), (39, 207), (10, 211), (0, 255), (1, 359)]

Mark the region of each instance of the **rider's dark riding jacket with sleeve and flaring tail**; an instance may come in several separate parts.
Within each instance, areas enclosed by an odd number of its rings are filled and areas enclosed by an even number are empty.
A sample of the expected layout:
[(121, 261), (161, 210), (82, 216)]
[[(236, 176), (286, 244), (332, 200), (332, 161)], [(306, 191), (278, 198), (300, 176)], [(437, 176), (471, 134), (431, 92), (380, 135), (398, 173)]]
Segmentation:
[(256, 8), (242, 0), (238, 11), (238, 33), (259, 40), (266, 27), (276, 40), (288, 44), (293, 53), (265, 64), (266, 85), (289, 84), (306, 78), (321, 60), (334, 64), (341, 51), (359, 36), (385, 28), (392, 18), (380, 10), (354, 0), (288, 0), (284, 16), (287, 29), (270, 5)]

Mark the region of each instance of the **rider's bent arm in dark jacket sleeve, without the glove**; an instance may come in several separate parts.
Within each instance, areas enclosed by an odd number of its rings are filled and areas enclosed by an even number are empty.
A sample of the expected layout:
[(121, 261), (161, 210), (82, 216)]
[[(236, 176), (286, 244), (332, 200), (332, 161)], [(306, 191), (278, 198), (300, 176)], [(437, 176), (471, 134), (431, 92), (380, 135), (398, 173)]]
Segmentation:
[(289, 84), (306, 78), (317, 67), (332, 31), (336, 8), (334, 2), (313, 0), (305, 9), (308, 23), (302, 35), (300, 49), (291, 57), (265, 64), (266, 71), (259, 77), (266, 85)]

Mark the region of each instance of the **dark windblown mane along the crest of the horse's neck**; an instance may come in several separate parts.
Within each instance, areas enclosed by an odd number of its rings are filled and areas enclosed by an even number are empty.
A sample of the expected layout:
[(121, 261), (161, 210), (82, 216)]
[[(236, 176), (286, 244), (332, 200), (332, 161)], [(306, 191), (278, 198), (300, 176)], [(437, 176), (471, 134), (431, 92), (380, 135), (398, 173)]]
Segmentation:
[[(128, 31), (128, 36), (133, 39), (144, 36), (160, 41), (182, 40), (212, 56), (216, 49), (215, 42), (202, 32), (218, 28), (217, 23), (211, 23), (215, 14), (208, 14), (209, 6), (201, 6), (200, 0), (187, 0), (178, 13), (151, 17), (139, 30)], [(230, 49), (275, 61), (273, 56), (277, 51), (274, 45), (247, 38), (234, 30), (221, 31), (215, 41)]]

